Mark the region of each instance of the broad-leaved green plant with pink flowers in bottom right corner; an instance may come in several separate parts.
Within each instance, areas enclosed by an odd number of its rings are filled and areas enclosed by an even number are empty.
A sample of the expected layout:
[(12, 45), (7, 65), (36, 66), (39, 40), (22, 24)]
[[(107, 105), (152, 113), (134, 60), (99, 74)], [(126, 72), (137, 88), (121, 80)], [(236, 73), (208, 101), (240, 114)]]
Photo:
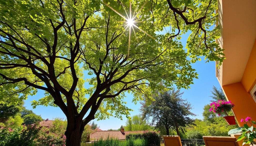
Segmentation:
[(256, 144), (256, 128), (254, 128), (256, 122), (251, 121), (251, 117), (247, 117), (245, 119), (241, 119), (241, 122), (246, 122), (246, 124), (243, 125), (243, 127), (231, 129), (228, 131), (228, 134), (236, 134), (236, 133), (242, 133), (240, 137), (238, 137), (237, 141), (243, 140), (244, 144)]

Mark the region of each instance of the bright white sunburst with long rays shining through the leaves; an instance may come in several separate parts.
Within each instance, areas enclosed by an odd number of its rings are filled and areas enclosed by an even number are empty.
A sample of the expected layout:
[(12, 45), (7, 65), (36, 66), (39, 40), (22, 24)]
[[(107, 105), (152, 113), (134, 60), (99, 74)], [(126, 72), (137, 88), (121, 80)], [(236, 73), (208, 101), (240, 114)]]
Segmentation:
[[(141, 28), (139, 28), (138, 26), (136, 26), (136, 23), (142, 22), (142, 21), (138, 21), (138, 20), (137, 20), (137, 15), (141, 12), (141, 10), (143, 9), (143, 7), (145, 6), (146, 3), (147, 3), (147, 2), (145, 2), (145, 3), (142, 5), (142, 7), (137, 11), (137, 13), (136, 13), (137, 8), (136, 8), (136, 9), (135, 9), (135, 12), (133, 13), (133, 16), (132, 16), (132, 4), (131, 4), (131, 2), (130, 2), (130, 7), (129, 7), (129, 8), (130, 8), (129, 15), (128, 15), (128, 13), (126, 12), (125, 7), (123, 6), (123, 9), (124, 9), (124, 11), (125, 11), (126, 16), (123, 16), (123, 15), (122, 15), (121, 13), (119, 13), (117, 10), (113, 9), (111, 6), (109, 6), (108, 4), (104, 3), (107, 7), (109, 7), (110, 9), (112, 9), (116, 14), (120, 15), (122, 18), (125, 19), (125, 21), (123, 21), (123, 22), (124, 22), (124, 25), (121, 25), (121, 26), (124, 26), (124, 31), (122, 32), (121, 35), (123, 35), (123, 33), (124, 33), (126, 30), (129, 30), (129, 45), (128, 45), (128, 54), (127, 54), (128, 56), (129, 56), (129, 54), (130, 54), (131, 30), (133, 30), (134, 35), (135, 35), (135, 38), (136, 38), (136, 40), (137, 40), (137, 36), (136, 36), (136, 33), (135, 33), (134, 28), (136, 28), (136, 29), (142, 31), (142, 32), (145, 33), (147, 36), (149, 36), (149, 37), (151, 37), (152, 39), (155, 40), (154, 37), (152, 37), (152, 36), (149, 35), (147, 32), (145, 32), (144, 30), (142, 30)], [(128, 28), (129, 28), (129, 29), (128, 29)], [(120, 35), (120, 36), (121, 36), (121, 35)]]

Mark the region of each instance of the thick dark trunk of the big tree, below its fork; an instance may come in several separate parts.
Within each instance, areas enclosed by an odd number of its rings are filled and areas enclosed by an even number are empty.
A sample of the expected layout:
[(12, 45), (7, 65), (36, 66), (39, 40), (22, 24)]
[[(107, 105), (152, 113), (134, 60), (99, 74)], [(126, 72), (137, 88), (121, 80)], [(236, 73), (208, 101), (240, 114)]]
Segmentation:
[(84, 130), (84, 124), (82, 121), (68, 119), (68, 126), (65, 132), (66, 146), (80, 146), (81, 138)]

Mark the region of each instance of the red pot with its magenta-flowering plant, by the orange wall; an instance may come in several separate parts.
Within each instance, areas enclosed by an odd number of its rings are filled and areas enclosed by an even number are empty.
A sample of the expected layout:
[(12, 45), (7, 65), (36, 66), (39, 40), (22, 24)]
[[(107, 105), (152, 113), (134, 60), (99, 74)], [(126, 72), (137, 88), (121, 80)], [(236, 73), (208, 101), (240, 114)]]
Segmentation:
[(217, 102), (212, 102), (210, 106), (209, 111), (218, 114), (218, 116), (223, 116), (229, 125), (236, 125), (235, 117), (228, 115), (228, 112), (235, 106), (231, 101), (218, 100)]

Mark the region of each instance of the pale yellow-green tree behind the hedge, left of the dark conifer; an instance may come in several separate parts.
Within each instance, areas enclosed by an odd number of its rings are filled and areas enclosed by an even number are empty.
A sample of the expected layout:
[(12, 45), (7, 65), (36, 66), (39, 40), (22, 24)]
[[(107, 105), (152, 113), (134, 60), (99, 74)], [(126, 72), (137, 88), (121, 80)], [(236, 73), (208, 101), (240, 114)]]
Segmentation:
[(131, 120), (126, 120), (124, 129), (127, 131), (145, 131), (151, 130), (152, 128), (145, 119), (141, 118), (141, 115), (134, 115)]

